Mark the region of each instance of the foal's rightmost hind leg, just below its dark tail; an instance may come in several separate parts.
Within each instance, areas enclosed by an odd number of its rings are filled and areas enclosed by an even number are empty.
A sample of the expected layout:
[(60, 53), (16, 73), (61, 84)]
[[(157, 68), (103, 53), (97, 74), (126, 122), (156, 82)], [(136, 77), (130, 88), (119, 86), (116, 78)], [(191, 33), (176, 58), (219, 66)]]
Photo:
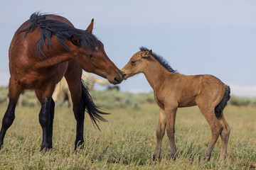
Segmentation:
[(218, 118), (218, 120), (220, 121), (220, 124), (223, 126), (223, 130), (220, 133), (220, 137), (221, 137), (220, 158), (225, 159), (225, 154), (227, 152), (227, 147), (228, 147), (228, 139), (230, 136), (230, 127), (228, 123), (225, 121), (223, 113), (221, 113), (220, 118)]

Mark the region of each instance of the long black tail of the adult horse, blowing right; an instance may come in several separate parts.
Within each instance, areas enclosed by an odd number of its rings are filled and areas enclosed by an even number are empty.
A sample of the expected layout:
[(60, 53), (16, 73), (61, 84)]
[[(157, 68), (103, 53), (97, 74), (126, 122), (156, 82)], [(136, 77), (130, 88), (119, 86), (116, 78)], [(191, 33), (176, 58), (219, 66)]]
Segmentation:
[[(82, 83), (82, 82), (81, 82)], [(100, 120), (103, 122), (107, 122), (105, 118), (102, 118), (102, 115), (107, 115), (110, 113), (105, 113), (100, 111), (97, 106), (95, 106), (95, 103), (92, 101), (92, 96), (90, 96), (89, 92), (85, 88), (85, 85), (82, 83), (82, 108), (84, 109), (84, 112), (86, 111), (92, 120), (93, 125), (96, 125), (97, 128), (100, 130), (97, 123), (100, 123)]]

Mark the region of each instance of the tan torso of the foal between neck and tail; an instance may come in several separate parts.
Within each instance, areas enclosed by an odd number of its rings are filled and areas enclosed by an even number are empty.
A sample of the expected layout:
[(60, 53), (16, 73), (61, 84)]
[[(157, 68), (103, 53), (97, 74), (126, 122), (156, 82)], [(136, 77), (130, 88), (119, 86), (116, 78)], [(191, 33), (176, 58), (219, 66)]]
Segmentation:
[(158, 101), (176, 103), (178, 107), (188, 107), (197, 105), (196, 98), (199, 94), (203, 94), (206, 99), (223, 96), (225, 84), (209, 74), (191, 76), (172, 74), (164, 82), (163, 89), (156, 93)]

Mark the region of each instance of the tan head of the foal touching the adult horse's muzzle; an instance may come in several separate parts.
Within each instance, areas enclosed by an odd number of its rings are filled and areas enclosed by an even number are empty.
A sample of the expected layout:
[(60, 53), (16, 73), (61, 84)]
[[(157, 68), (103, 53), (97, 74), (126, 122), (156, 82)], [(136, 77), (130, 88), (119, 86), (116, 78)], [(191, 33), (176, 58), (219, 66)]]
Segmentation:
[(152, 55), (152, 50), (141, 50), (136, 52), (129, 62), (122, 68), (122, 74), (124, 79), (134, 76), (135, 74), (141, 73), (144, 71), (146, 66), (146, 60), (149, 60), (149, 57)]

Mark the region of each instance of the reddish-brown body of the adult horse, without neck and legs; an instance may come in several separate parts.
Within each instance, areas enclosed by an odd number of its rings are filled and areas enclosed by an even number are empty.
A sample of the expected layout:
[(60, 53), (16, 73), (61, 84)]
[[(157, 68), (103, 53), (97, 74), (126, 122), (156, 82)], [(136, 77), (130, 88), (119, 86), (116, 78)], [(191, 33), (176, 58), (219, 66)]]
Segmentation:
[[(73, 26), (68, 19), (62, 16), (49, 15), (46, 18), (61, 21)], [(11, 77), (14, 77), (18, 84), (24, 87), (24, 89), (37, 88), (41, 86), (43, 82), (48, 82), (54, 79), (56, 83), (64, 76), (66, 69), (68, 68), (68, 62), (60, 62), (50, 67), (43, 66), (41, 69), (37, 69), (38, 63), (42, 62), (38, 56), (36, 44), (41, 38), (40, 27), (37, 26), (31, 33), (24, 33), (21, 30), (28, 28), (31, 25), (31, 21), (24, 22), (11, 40), (9, 47), (9, 71)], [(65, 48), (60, 45), (55, 35), (51, 40), (53, 45), (49, 45), (50, 57), (61, 55), (61, 51), (65, 51)], [(58, 50), (56, 50), (58, 49)], [(43, 47), (43, 52), (47, 54), (47, 50)], [(61, 56), (60, 56), (61, 57)]]

